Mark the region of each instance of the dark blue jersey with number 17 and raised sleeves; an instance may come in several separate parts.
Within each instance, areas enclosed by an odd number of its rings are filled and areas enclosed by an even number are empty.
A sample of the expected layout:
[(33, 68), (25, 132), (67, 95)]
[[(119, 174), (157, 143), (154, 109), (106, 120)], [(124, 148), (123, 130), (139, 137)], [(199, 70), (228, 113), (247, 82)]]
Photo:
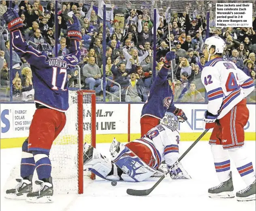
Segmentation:
[(47, 57), (45, 52), (35, 50), (23, 41), (21, 32), (16, 30), (13, 34), (13, 48), (19, 57), (24, 57), (33, 74), (35, 90), (34, 101), (48, 108), (65, 112), (68, 110), (68, 78), (67, 69), (80, 61), (79, 42), (70, 42), (70, 54), (65, 57)]

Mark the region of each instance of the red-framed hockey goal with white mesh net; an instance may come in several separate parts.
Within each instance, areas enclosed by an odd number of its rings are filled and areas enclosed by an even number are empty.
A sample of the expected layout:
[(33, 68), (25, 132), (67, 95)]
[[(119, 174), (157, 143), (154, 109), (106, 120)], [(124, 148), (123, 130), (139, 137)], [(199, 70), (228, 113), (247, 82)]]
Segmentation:
[[(69, 109), (66, 125), (54, 140), (50, 151), (54, 192), (83, 193), (84, 180), (95, 179), (89, 171), (83, 171), (83, 145), (96, 147), (96, 95), (94, 91), (69, 91)], [(20, 165), (12, 169), (7, 188), (15, 186), (19, 178)], [(33, 176), (33, 189), (36, 189)]]

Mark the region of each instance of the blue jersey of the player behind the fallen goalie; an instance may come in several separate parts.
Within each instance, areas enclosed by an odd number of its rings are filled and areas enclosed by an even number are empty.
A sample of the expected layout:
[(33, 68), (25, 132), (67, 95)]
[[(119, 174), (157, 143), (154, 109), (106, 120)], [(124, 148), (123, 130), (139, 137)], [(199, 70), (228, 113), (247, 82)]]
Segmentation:
[(168, 70), (163, 66), (158, 72), (156, 81), (149, 91), (149, 97), (142, 108), (141, 117), (153, 116), (162, 119), (165, 112), (175, 111), (173, 92), (167, 80)]

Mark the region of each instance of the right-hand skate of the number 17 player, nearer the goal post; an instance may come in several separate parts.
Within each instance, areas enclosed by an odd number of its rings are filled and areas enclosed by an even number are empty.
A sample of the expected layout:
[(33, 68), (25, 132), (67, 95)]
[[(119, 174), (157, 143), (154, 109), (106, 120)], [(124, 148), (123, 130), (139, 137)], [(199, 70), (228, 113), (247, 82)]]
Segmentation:
[(53, 185), (52, 178), (49, 177), (49, 181), (36, 180), (35, 183), (40, 185), (39, 190), (30, 192), (27, 194), (26, 201), (29, 203), (52, 203)]

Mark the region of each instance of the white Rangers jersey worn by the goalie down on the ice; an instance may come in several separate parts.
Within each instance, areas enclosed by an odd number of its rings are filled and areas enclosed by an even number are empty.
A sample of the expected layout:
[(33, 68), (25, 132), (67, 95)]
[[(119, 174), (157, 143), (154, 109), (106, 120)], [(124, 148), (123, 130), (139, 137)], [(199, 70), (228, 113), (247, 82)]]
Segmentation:
[(152, 128), (141, 139), (136, 139), (133, 142), (138, 142), (146, 145), (152, 152), (156, 162), (153, 168), (157, 169), (161, 162), (165, 160), (167, 165), (173, 165), (179, 158), (179, 143), (180, 135), (175, 129), (158, 124)]

